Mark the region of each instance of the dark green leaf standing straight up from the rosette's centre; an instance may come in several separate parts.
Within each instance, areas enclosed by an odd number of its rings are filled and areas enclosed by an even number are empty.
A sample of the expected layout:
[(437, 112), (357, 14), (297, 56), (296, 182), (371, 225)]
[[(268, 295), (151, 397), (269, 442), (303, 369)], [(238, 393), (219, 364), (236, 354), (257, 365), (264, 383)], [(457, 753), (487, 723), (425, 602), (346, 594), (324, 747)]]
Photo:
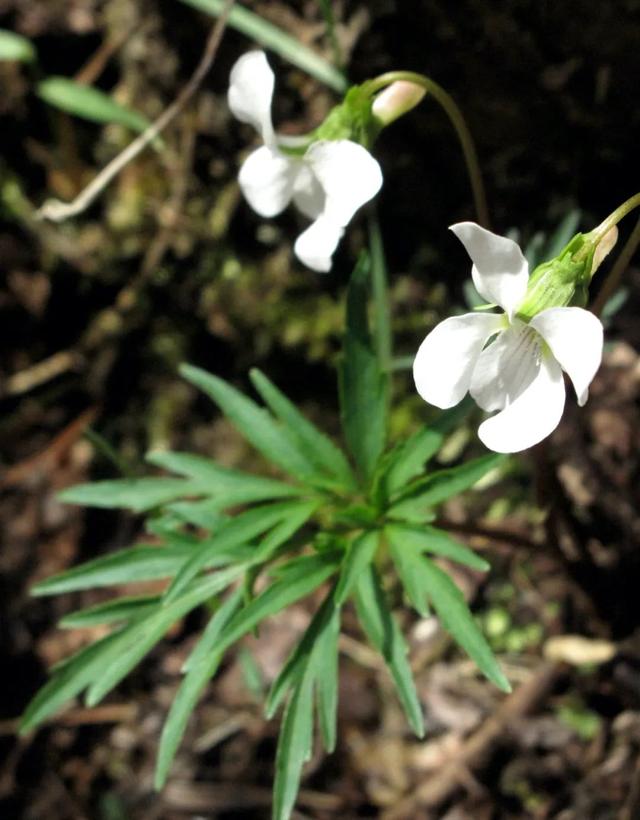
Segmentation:
[(382, 454), (387, 425), (388, 379), (380, 371), (367, 320), (369, 261), (361, 256), (349, 283), (340, 410), (345, 438), (364, 478)]

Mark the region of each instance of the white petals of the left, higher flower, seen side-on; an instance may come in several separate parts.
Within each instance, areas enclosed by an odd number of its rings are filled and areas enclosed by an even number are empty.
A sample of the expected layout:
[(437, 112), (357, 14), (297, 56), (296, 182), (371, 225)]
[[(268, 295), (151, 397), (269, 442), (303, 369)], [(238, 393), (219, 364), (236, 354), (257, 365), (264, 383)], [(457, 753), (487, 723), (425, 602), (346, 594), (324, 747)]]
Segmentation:
[(231, 70), (229, 108), (250, 123), (264, 145), (245, 160), (238, 181), (261, 216), (276, 216), (293, 200), (312, 224), (297, 239), (296, 256), (317, 271), (331, 268), (331, 256), (354, 213), (382, 185), (377, 161), (351, 140), (317, 140), (301, 154), (286, 149), (306, 139), (278, 136), (271, 122), (275, 78), (262, 51), (250, 51)]

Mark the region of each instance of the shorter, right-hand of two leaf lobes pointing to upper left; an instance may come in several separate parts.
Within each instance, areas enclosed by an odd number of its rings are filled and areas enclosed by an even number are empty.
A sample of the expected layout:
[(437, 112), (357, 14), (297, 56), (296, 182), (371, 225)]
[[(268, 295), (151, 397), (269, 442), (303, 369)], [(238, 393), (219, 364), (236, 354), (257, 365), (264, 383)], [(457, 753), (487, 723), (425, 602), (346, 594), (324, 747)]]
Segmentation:
[(254, 369), (250, 376), (262, 400), (287, 427), (309, 461), (321, 471), (338, 479), (345, 489), (354, 489), (355, 476), (342, 450), (308, 421), (263, 373)]

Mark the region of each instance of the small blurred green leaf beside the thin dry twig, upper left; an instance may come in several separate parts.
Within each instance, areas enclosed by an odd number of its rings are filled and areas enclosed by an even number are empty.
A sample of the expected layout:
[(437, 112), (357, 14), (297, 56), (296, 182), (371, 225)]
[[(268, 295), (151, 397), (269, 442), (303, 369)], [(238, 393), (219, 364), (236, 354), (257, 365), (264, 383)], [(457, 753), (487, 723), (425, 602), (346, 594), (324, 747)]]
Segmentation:
[(120, 105), (103, 91), (69, 77), (47, 77), (38, 83), (37, 93), (49, 105), (91, 122), (117, 123), (140, 133), (151, 124), (142, 114)]

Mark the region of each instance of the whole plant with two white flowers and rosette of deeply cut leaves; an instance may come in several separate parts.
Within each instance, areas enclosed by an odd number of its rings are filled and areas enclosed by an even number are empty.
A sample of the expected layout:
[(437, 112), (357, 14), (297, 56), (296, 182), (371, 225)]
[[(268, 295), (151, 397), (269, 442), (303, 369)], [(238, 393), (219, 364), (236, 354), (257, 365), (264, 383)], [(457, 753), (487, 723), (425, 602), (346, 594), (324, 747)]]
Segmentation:
[[(428, 78), (390, 72), (354, 86), (324, 123), (295, 140), (274, 130), (274, 83), (260, 51), (241, 57), (231, 72), (230, 109), (263, 141), (242, 164), (239, 184), (258, 214), (275, 216), (293, 202), (311, 220), (294, 244), (309, 267), (331, 267), (352, 217), (380, 190), (382, 172), (371, 154), (376, 136), (425, 93), (450, 114), (476, 209), (479, 214), (486, 209), (464, 121), (451, 98)], [(271, 474), (229, 469), (189, 453), (155, 452), (150, 464), (168, 475), (102, 481), (62, 493), (69, 503), (146, 515), (152, 543), (49, 578), (36, 586), (36, 595), (130, 582), (150, 583), (157, 590), (158, 582), (164, 584), (160, 592), (115, 597), (63, 619), (63, 627), (101, 625), (109, 631), (55, 667), (26, 709), (22, 730), (38, 726), (83, 693), (87, 705), (99, 703), (174, 624), (201, 609), (207, 624), (185, 661), (162, 731), (156, 769), (160, 788), (189, 717), (227, 653), (265, 619), (306, 599), (310, 623), (265, 705), (268, 717), (282, 709), (273, 818), (287, 820), (314, 736), (328, 752), (336, 746), (339, 639), (346, 607), (355, 608), (362, 633), (388, 667), (419, 737), (424, 733), (421, 704), (407, 643), (393, 614), (402, 600), (418, 617), (433, 612), (478, 669), (508, 692), (509, 682), (462, 591), (443, 568), (448, 561), (484, 572), (488, 564), (438, 526), (438, 508), (488, 473), (498, 474), (506, 453), (532, 446), (555, 428), (565, 402), (563, 371), (578, 403), (587, 400), (603, 344), (602, 325), (586, 310), (589, 282), (612, 243), (615, 225), (639, 204), (640, 195), (628, 200), (531, 274), (512, 240), (475, 223), (454, 225), (471, 257), (476, 288), (489, 304), (449, 317), (427, 335), (415, 359), (415, 382), (420, 395), (445, 412), (403, 439), (388, 440), (393, 368), (379, 249), (362, 253), (347, 292), (338, 372), (344, 448), (260, 371), (251, 372), (258, 402), (212, 373), (183, 366), (182, 376), (217, 405), (269, 463)], [(479, 430), (491, 452), (443, 469), (437, 455), (460, 418), (448, 408), (467, 392), (482, 409), (498, 411)], [(273, 468), (278, 478), (272, 477)]]

